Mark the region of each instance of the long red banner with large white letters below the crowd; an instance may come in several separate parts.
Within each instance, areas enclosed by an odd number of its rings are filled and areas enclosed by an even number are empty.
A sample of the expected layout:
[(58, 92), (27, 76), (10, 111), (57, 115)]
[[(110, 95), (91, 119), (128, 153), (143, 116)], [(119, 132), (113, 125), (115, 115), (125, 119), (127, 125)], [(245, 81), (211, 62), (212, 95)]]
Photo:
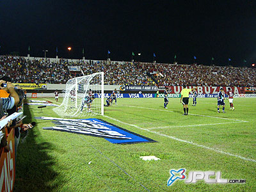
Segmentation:
[[(164, 88), (168, 88), (169, 93), (180, 93), (182, 90), (182, 86), (159, 86), (159, 90), (164, 90)], [(223, 88), (224, 92), (227, 93), (228, 88), (231, 88), (235, 94), (244, 93), (244, 87), (237, 86), (188, 86), (188, 88), (196, 88), (196, 92), (198, 94), (217, 94), (220, 92), (220, 88)]]

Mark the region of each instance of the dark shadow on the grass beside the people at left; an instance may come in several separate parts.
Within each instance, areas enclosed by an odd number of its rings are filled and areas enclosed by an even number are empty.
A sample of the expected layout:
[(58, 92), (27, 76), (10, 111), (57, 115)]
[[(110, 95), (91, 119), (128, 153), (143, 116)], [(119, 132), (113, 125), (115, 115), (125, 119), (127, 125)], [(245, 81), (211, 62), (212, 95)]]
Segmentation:
[[(29, 107), (24, 106), (27, 115), (26, 122), (31, 122)], [(39, 133), (34, 129), (29, 130), (28, 137), (24, 143), (20, 142), (16, 159), (16, 175), (13, 191), (55, 191), (58, 184), (53, 184), (60, 175), (52, 169), (54, 159), (47, 151), (54, 147), (51, 143), (38, 140)], [(51, 183), (51, 185), (49, 185)], [(61, 182), (58, 182), (59, 184)]]

